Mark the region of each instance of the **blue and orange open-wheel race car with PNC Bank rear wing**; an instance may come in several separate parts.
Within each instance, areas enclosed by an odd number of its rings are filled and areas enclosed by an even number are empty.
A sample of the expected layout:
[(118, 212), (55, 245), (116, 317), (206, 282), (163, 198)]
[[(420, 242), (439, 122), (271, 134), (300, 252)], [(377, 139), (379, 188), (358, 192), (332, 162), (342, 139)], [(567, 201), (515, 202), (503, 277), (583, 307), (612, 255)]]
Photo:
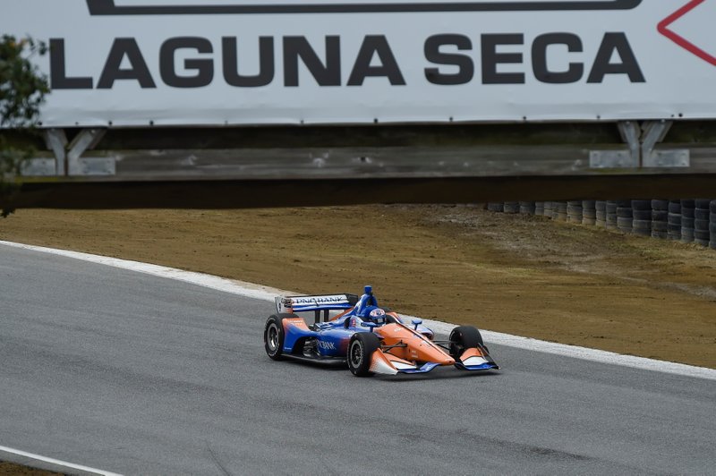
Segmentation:
[[(472, 326), (452, 330), (447, 341), (422, 326), (405, 324), (396, 312), (378, 305), (370, 285), (355, 294), (279, 296), (277, 313), (266, 321), (268, 357), (346, 365), (357, 377), (425, 373), (439, 366), (460, 370), (498, 370)], [(312, 312), (311, 325), (297, 313)], [(323, 318), (321, 321), (321, 317)]]

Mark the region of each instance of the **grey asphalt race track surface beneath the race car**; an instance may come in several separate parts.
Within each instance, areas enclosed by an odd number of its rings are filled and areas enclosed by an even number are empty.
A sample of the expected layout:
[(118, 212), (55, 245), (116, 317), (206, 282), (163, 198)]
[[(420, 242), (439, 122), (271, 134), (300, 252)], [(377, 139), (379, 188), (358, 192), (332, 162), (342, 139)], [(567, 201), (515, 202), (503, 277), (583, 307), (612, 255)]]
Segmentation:
[(716, 381), (269, 361), (269, 302), (0, 246), (0, 445), (124, 474), (712, 474)]

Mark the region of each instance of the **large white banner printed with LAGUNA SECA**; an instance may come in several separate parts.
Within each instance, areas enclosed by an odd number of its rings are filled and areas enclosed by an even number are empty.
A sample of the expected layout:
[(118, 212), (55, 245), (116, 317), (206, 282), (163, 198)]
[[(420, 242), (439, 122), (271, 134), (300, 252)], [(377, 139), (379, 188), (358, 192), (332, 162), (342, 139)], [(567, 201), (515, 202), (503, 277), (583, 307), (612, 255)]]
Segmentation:
[(55, 126), (716, 118), (716, 0), (0, 0)]

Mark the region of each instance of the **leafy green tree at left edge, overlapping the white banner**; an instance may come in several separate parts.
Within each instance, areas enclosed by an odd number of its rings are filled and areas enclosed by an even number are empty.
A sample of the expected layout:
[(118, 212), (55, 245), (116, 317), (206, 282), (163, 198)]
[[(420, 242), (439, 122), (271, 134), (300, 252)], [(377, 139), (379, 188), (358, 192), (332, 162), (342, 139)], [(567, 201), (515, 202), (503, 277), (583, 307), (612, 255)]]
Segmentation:
[[(0, 38), (0, 128), (31, 131), (37, 124), (49, 87), (45, 75), (30, 60), (46, 53), (45, 43), (32, 38)], [(21, 163), (33, 154), (33, 149), (15, 146), (0, 134), (0, 216), (13, 213), (12, 203), (21, 187)]]

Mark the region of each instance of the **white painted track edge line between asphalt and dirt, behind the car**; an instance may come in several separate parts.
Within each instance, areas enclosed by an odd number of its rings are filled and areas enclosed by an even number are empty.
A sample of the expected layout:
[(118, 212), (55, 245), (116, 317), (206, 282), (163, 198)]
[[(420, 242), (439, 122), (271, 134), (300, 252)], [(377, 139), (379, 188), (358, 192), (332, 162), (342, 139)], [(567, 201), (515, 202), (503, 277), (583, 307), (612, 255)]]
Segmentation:
[[(273, 302), (274, 298), (279, 294), (295, 294), (290, 291), (283, 291), (268, 286), (254, 285), (251, 283), (245, 283), (243, 281), (226, 279), (224, 277), (211, 276), (203, 273), (194, 273), (192, 271), (183, 271), (182, 269), (166, 268), (164, 266), (141, 263), (139, 261), (108, 258), (106, 256), (97, 256), (88, 253), (81, 253), (78, 251), (55, 250), (53, 248), (45, 248), (42, 246), (33, 246), (29, 244), (21, 244), (15, 242), (0, 241), (0, 244), (13, 246), (15, 248), (21, 248), (24, 250), (42, 251), (69, 258), (82, 259), (85, 261), (112, 266), (115, 268), (130, 269), (132, 271), (137, 271), (153, 276), (168, 277), (170, 279), (175, 279), (186, 283), (192, 283), (194, 285), (201, 285), (209, 287), (211, 289), (216, 289), (218, 291), (238, 294), (241, 296), (259, 299), (263, 301)], [(452, 328), (456, 326), (455, 324), (448, 324), (445, 322), (439, 322), (434, 320), (425, 320), (425, 324), (429, 327), (432, 327), (433, 330), (443, 334), (449, 334), (450, 330), (452, 330)], [(481, 330), (481, 333), (485, 341), (491, 344), (507, 345), (510, 347), (517, 347), (529, 351), (552, 353), (555, 355), (582, 359), (584, 361), (598, 361), (609, 365), (620, 365), (623, 367), (632, 367), (634, 369), (640, 370), (653, 370), (657, 372), (677, 374), (687, 377), (716, 380), (716, 370), (707, 369), (704, 367), (695, 367), (693, 365), (685, 365), (683, 363), (669, 361), (656, 361), (653, 359), (646, 359), (644, 357), (635, 357), (632, 355), (611, 353), (596, 349), (588, 349), (586, 347), (577, 347), (575, 345), (556, 344), (552, 342), (531, 339), (529, 337), (510, 336), (509, 334), (502, 334), (499, 332), (492, 332), (487, 330)]]

